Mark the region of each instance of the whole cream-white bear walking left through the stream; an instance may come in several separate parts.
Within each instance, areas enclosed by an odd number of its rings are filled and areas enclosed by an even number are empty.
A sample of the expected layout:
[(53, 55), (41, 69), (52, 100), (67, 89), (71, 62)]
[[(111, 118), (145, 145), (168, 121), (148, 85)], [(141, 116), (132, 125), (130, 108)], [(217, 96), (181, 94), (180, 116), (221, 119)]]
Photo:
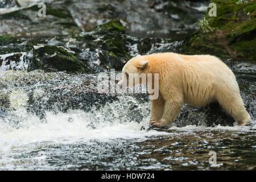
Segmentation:
[[(127, 80), (129, 85), (130, 75), (151, 73), (154, 78), (154, 74), (159, 73), (158, 98), (151, 100), (150, 123), (153, 126), (167, 127), (180, 113), (184, 102), (205, 106), (214, 101), (224, 107), (238, 125), (250, 123), (250, 115), (243, 105), (236, 77), (217, 57), (171, 52), (138, 55), (125, 64), (122, 73), (118, 83), (121, 87), (123, 80)], [(139, 84), (143, 84), (142, 79)]]

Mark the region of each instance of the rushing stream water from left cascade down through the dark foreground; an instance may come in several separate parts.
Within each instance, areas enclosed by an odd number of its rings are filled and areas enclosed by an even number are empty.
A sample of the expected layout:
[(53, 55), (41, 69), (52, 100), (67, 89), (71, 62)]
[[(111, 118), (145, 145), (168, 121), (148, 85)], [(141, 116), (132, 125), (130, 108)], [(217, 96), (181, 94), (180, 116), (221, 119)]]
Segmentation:
[(255, 121), (141, 131), (146, 97), (96, 94), (97, 75), (0, 71), (0, 80), (2, 170), (256, 169)]

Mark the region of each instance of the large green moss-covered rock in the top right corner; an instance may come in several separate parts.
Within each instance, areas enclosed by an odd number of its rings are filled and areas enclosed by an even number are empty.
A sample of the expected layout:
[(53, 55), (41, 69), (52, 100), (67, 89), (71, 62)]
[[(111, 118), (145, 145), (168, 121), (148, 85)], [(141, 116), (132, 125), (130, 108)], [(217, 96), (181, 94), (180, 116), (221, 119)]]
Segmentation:
[(217, 16), (208, 13), (200, 22), (200, 30), (189, 36), (183, 52), (212, 54), (222, 58), (256, 63), (256, 22), (254, 1), (214, 0)]

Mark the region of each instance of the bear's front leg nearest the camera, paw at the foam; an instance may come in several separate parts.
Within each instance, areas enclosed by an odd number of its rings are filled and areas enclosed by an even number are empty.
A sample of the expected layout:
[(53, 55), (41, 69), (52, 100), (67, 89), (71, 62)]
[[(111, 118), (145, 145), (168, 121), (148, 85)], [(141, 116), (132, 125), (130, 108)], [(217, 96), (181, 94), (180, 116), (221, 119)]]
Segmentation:
[(183, 105), (182, 98), (175, 98), (175, 100), (166, 100), (164, 104), (163, 115), (161, 119), (156, 119), (153, 126), (167, 127), (172, 121), (175, 120), (180, 113), (181, 106)]

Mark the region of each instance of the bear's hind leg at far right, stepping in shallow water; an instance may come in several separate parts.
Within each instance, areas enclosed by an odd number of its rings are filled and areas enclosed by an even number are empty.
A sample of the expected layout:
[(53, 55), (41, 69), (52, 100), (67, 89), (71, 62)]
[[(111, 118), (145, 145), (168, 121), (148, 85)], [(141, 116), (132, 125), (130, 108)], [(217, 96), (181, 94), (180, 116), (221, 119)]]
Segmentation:
[(243, 105), (240, 94), (222, 95), (217, 98), (218, 103), (238, 122), (239, 126), (248, 125), (251, 121), (250, 115), (247, 113)]

